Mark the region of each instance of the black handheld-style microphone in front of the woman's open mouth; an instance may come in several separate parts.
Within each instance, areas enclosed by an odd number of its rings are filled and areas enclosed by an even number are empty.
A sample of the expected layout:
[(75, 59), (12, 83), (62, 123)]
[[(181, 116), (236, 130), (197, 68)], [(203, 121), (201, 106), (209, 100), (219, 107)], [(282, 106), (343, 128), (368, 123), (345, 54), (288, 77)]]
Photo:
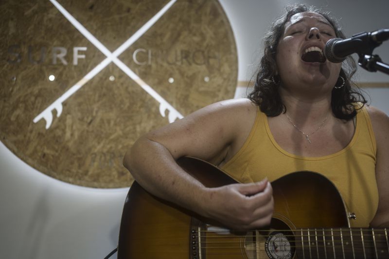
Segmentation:
[(325, 44), (324, 55), (333, 63), (340, 63), (353, 53), (366, 54), (389, 38), (389, 29), (363, 32), (348, 39), (333, 38)]

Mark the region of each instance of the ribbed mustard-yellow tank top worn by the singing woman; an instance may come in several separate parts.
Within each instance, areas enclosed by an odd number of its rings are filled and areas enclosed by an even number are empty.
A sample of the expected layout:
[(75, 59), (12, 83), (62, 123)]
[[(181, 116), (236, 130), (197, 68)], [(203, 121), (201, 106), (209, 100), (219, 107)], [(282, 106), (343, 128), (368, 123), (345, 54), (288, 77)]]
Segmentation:
[(341, 151), (321, 157), (303, 157), (283, 150), (270, 132), (267, 117), (258, 114), (242, 148), (225, 165), (223, 171), (239, 182), (270, 182), (296, 171), (313, 171), (332, 181), (348, 212), (356, 214), (352, 227), (367, 227), (378, 207), (375, 179), (376, 142), (369, 114), (358, 110), (355, 132)]

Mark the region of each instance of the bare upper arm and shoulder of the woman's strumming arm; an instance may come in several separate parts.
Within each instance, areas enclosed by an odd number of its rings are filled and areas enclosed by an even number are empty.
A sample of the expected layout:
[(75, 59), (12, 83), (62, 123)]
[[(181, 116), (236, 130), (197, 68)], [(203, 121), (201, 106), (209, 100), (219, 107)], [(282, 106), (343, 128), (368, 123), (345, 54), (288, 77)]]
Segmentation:
[(156, 129), (145, 138), (167, 148), (174, 158), (195, 156), (207, 161), (220, 160), (255, 121), (257, 105), (248, 99), (217, 102)]

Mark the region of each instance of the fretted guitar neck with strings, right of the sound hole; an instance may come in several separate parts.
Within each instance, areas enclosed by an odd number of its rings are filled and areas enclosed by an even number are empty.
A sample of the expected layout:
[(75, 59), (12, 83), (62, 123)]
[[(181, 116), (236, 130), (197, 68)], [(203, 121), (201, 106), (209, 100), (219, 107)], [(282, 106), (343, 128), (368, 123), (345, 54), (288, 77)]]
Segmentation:
[(389, 258), (387, 228), (294, 230), (299, 258)]

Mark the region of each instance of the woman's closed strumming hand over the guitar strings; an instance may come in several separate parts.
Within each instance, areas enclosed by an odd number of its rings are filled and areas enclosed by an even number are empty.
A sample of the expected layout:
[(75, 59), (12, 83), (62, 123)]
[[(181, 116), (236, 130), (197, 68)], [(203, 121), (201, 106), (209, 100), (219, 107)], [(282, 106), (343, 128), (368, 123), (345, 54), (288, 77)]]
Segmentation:
[(274, 209), (273, 190), (267, 179), (208, 189), (205, 215), (234, 230), (270, 224)]

